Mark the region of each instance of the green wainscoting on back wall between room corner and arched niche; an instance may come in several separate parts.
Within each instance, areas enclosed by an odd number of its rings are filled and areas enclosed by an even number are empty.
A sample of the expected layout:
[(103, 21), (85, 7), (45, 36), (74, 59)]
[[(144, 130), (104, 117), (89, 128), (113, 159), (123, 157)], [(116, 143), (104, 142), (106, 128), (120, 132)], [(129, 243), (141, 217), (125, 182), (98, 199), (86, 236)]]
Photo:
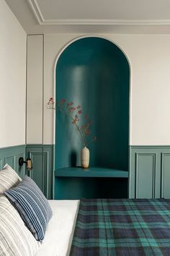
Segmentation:
[(54, 145), (27, 145), (26, 155), (32, 159), (29, 175), (40, 187), (45, 197), (53, 199), (53, 148)]

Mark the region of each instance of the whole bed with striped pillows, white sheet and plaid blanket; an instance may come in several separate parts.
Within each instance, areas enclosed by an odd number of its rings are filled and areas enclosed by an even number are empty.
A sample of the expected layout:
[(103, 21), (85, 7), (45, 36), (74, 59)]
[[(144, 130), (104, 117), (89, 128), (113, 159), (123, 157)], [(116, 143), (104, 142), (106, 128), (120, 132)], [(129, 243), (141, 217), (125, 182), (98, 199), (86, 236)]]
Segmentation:
[(169, 256), (170, 200), (47, 200), (6, 165), (0, 237), (4, 256)]

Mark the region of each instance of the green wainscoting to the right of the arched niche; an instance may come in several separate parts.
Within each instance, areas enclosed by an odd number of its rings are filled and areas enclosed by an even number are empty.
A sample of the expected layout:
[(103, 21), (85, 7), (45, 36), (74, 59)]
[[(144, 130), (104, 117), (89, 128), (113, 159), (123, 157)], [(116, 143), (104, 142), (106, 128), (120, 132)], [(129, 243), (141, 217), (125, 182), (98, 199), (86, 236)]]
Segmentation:
[(170, 146), (130, 146), (130, 198), (170, 198)]

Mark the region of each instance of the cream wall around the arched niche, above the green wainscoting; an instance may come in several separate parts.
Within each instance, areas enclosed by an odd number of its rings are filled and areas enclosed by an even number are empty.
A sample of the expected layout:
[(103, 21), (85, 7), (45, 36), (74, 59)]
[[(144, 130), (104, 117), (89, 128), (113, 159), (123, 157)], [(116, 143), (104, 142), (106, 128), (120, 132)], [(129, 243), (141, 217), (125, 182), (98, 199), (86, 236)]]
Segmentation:
[[(46, 102), (54, 94), (55, 59), (80, 35), (45, 35), (44, 143), (54, 140)], [(170, 35), (100, 35), (122, 48), (131, 68), (130, 145), (170, 145)]]

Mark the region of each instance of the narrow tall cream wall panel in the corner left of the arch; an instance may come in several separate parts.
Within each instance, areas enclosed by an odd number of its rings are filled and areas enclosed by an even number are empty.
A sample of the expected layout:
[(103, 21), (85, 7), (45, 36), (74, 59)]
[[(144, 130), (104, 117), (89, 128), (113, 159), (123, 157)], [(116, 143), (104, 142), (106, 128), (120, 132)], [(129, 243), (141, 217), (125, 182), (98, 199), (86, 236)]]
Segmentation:
[(43, 35), (27, 38), (27, 144), (43, 142)]

